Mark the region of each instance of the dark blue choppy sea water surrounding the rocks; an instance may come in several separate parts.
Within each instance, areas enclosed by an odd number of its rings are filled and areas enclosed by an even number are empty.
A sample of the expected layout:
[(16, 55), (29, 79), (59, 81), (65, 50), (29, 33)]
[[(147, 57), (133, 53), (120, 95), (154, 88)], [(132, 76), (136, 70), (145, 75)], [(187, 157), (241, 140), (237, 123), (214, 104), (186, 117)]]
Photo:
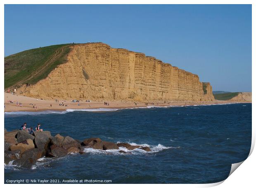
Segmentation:
[[(102, 109), (107, 110), (107, 109)], [(111, 180), (112, 183), (215, 183), (251, 148), (251, 103), (114, 111), (5, 113), (5, 128), (41, 123), (52, 135), (149, 146), (152, 152), (87, 149), (58, 159), (41, 158), (33, 169), (5, 165), (15, 179)], [(45, 167), (45, 165), (49, 165)]]

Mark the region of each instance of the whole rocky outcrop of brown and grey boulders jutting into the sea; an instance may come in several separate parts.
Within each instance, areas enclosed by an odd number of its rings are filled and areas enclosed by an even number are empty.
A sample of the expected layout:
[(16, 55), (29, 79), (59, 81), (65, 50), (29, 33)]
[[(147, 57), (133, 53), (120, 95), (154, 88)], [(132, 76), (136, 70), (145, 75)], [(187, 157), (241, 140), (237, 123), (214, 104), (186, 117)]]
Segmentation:
[[(69, 153), (83, 154), (87, 148), (103, 151), (112, 149), (119, 150), (119, 147), (125, 147), (128, 150), (142, 149), (147, 152), (151, 151), (149, 147), (133, 146), (128, 143), (116, 144), (104, 141), (100, 138), (88, 138), (81, 142), (69, 136), (63, 137), (59, 134), (53, 137), (49, 131), (35, 132), (34, 135), (35, 136), (26, 135), (26, 132), (23, 130), (5, 131), (5, 164), (13, 161), (13, 165), (31, 168), (36, 164), (36, 160), (43, 156), (59, 158)], [(22, 140), (30, 136), (32, 136), (33, 140), (29, 138), (19, 143), (12, 143), (17, 141), (17, 137)], [(119, 153), (126, 154), (130, 152), (120, 150)]]

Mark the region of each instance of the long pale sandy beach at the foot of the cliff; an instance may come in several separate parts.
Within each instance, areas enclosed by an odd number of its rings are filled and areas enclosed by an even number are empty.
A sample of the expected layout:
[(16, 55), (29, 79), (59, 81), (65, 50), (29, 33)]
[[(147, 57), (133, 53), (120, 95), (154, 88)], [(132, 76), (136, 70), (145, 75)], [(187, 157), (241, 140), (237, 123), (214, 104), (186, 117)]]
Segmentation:
[[(59, 105), (59, 104), (64, 104)], [(64, 111), (66, 109), (95, 109), (95, 108), (132, 108), (132, 107), (147, 107), (147, 106), (170, 106), (170, 105), (200, 105), (200, 104), (226, 104), (226, 103), (237, 103), (230, 101), (219, 101), (215, 100), (213, 102), (150, 102), (147, 105), (142, 102), (111, 102), (106, 101), (109, 105), (104, 105), (103, 102), (92, 101), (92, 102), (71, 102), (71, 100), (60, 100), (56, 102), (55, 100), (42, 100), (35, 99), (31, 97), (15, 95), (11, 93), (5, 93), (5, 111), (43, 111), (43, 110), (60, 110)]]

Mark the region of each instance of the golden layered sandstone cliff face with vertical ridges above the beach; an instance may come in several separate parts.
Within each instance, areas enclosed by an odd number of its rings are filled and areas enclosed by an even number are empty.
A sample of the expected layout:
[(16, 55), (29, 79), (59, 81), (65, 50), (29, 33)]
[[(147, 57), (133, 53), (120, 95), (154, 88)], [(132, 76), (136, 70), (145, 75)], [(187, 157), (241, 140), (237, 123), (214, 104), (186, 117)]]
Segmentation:
[(67, 63), (18, 89), (36, 98), (115, 101), (211, 101), (209, 83), (154, 57), (103, 43), (71, 46)]

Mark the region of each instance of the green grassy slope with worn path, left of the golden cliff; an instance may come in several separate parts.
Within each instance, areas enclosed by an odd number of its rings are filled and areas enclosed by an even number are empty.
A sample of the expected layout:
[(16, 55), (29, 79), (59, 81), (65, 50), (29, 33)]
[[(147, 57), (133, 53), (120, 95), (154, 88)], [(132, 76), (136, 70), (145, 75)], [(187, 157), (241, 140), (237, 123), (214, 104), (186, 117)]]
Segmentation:
[(5, 89), (18, 83), (36, 84), (46, 78), (57, 65), (66, 62), (70, 45), (46, 46), (5, 57)]

